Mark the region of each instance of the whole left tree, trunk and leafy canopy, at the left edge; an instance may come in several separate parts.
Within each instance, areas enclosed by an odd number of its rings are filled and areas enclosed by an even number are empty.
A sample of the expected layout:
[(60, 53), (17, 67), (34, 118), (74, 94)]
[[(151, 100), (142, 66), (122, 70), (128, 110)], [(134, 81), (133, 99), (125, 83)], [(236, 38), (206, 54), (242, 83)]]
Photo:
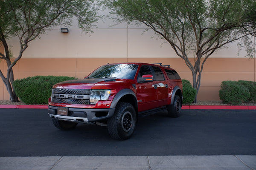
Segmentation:
[[(0, 0), (0, 45), (5, 50), (0, 53), (0, 59), (4, 59), (8, 67), (6, 77), (1, 70), (0, 77), (11, 102), (18, 102), (12, 86), (12, 68), (28, 48), (28, 43), (53, 26), (71, 25), (73, 17), (87, 33), (98, 20), (96, 11), (94, 0)], [(7, 43), (11, 37), (18, 37), (20, 42), (20, 52), (13, 58)]]

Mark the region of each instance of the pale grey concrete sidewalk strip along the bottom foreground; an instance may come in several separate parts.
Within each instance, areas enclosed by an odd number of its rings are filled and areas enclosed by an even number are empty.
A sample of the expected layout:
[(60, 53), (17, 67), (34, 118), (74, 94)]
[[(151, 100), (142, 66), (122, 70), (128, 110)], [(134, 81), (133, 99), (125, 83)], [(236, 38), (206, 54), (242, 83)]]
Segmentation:
[(1, 170), (255, 170), (256, 156), (0, 157)]

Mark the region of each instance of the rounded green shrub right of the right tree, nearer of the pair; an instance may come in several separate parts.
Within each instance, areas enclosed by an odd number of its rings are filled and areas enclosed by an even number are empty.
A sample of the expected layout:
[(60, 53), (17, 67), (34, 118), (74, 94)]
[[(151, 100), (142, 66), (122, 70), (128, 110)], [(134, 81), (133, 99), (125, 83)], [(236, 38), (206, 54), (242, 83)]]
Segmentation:
[(223, 81), (219, 96), (224, 103), (239, 105), (241, 102), (248, 102), (250, 92), (241, 82)]

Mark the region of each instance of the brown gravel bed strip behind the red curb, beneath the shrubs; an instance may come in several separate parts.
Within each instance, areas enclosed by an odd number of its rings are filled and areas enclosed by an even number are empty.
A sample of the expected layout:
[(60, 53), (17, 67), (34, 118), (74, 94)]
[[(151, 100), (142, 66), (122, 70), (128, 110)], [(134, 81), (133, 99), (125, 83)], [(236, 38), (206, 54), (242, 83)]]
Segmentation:
[[(10, 102), (9, 100), (0, 100), (0, 105), (26, 105), (23, 102)], [(184, 104), (186, 105), (186, 104)], [(198, 101), (197, 103), (192, 103), (190, 105), (227, 105), (222, 103), (222, 101)], [(255, 102), (247, 102), (247, 103), (242, 103), (240, 105), (246, 105), (246, 106), (256, 106)]]

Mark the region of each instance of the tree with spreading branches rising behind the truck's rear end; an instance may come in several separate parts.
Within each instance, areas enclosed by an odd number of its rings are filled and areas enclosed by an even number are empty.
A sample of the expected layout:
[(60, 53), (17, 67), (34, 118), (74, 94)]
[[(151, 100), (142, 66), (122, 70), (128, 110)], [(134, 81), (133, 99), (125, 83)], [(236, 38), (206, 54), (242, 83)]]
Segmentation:
[(145, 24), (169, 42), (192, 71), (197, 93), (204, 63), (215, 51), (241, 40), (248, 56), (255, 53), (251, 39), (256, 33), (255, 0), (105, 0), (105, 4), (118, 22)]

